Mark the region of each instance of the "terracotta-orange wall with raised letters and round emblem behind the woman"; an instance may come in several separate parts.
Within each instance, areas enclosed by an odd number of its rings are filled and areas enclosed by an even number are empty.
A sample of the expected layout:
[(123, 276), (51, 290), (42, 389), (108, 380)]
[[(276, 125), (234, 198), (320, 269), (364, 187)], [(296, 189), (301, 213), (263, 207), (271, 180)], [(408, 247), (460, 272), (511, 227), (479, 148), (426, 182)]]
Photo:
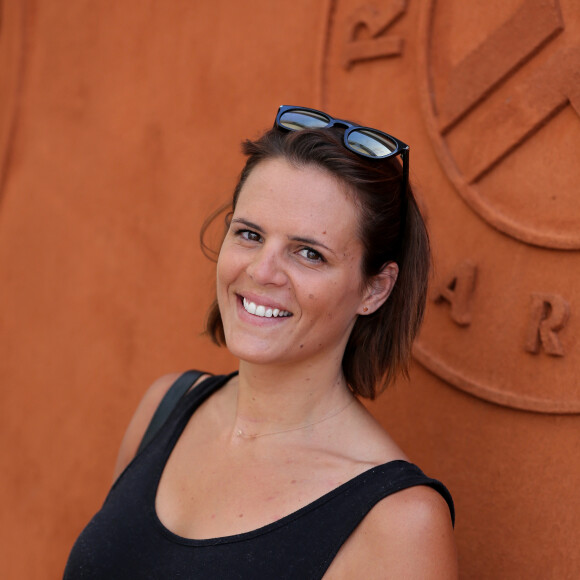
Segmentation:
[(3, 578), (60, 576), (154, 378), (232, 368), (197, 233), (282, 103), (411, 145), (435, 271), (372, 408), (450, 487), (462, 577), (580, 575), (577, 2), (0, 9)]

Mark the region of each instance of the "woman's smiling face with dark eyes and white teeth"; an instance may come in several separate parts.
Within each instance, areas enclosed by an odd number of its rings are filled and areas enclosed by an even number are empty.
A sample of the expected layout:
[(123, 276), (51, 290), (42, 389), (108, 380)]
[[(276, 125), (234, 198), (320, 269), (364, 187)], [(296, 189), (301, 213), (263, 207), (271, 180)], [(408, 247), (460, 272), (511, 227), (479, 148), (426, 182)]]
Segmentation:
[(358, 213), (316, 166), (263, 161), (238, 199), (217, 265), (229, 350), (258, 364), (340, 364), (363, 312)]

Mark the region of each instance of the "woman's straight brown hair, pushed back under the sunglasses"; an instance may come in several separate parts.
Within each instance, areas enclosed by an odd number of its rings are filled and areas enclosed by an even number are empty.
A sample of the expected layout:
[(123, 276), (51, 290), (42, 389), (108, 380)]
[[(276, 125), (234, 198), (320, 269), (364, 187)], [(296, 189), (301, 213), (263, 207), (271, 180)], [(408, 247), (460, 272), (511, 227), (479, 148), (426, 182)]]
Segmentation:
[[(388, 300), (376, 312), (358, 317), (342, 360), (352, 391), (374, 399), (399, 372), (408, 376), (411, 347), (423, 319), (429, 276), (427, 231), (409, 184), (403, 198), (399, 159), (361, 157), (344, 146), (342, 131), (337, 128), (293, 132), (274, 128), (256, 141), (245, 141), (243, 152), (248, 159), (230, 210), (235, 210), (240, 191), (258, 163), (283, 158), (296, 166), (313, 164), (330, 172), (353, 194), (364, 247), (363, 282), (368, 282), (389, 262), (399, 266)], [(202, 247), (206, 251), (204, 234), (215, 217), (216, 214), (210, 216), (202, 228)], [(206, 331), (216, 344), (225, 344), (217, 301), (208, 312)]]

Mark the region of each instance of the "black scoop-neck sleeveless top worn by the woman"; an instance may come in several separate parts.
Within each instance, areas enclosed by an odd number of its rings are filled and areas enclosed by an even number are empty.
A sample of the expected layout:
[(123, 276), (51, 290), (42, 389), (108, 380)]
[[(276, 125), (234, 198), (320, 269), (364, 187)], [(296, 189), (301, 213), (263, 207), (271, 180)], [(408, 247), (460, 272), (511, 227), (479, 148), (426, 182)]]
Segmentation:
[(257, 530), (204, 540), (172, 533), (155, 512), (161, 474), (195, 410), (231, 376), (210, 377), (180, 400), (77, 539), (64, 580), (319, 579), (377, 502), (415, 485), (437, 490), (454, 520), (453, 501), (445, 486), (417, 466), (396, 460), (361, 473)]

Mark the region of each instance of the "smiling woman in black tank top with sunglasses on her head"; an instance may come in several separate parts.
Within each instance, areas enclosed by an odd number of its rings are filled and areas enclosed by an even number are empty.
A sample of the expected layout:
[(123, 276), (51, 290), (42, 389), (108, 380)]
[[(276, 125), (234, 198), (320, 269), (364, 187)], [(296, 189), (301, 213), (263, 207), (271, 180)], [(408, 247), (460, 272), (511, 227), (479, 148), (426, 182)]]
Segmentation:
[(207, 323), (239, 373), (137, 453), (177, 375), (152, 385), (65, 578), (454, 578), (447, 490), (358, 401), (406, 371), (425, 304), (408, 147), (286, 106), (244, 151)]

